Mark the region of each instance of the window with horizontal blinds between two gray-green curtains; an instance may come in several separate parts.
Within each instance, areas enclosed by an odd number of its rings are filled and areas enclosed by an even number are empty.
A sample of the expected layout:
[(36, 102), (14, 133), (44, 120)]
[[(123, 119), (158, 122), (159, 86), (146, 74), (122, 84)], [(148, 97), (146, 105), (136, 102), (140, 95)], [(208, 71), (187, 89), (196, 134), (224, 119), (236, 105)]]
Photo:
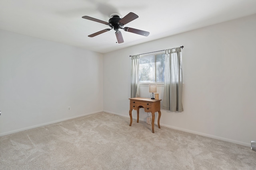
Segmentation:
[(140, 55), (140, 83), (164, 82), (165, 51)]

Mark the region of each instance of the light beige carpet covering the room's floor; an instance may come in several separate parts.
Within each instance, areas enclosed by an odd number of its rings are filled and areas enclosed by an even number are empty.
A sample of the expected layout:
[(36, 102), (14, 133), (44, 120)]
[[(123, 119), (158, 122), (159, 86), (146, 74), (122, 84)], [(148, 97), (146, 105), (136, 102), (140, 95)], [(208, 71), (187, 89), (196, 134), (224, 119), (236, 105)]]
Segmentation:
[(0, 137), (1, 170), (255, 170), (256, 152), (96, 113)]

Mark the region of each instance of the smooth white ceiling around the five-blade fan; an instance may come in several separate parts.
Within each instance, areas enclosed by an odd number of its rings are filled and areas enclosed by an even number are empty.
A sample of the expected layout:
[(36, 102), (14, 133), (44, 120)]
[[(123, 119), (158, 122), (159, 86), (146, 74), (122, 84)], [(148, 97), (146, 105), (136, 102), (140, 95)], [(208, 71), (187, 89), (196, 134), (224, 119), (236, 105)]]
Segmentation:
[[(139, 18), (125, 27), (148, 37), (122, 29), (120, 44), (114, 30), (88, 37), (109, 27), (82, 16), (108, 22), (113, 13), (129, 12)], [(0, 29), (107, 53), (255, 13), (256, 0), (0, 0)]]

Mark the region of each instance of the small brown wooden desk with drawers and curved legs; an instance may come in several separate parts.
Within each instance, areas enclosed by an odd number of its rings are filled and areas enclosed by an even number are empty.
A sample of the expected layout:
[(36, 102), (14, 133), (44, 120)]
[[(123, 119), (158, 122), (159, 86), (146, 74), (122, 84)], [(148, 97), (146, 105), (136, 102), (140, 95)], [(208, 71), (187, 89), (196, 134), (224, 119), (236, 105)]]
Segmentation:
[(139, 110), (144, 108), (145, 112), (152, 113), (152, 133), (154, 133), (155, 112), (158, 111), (158, 128), (160, 128), (160, 101), (150, 98), (129, 98), (130, 100), (130, 126), (132, 125), (132, 109), (137, 110), (137, 123), (139, 123)]

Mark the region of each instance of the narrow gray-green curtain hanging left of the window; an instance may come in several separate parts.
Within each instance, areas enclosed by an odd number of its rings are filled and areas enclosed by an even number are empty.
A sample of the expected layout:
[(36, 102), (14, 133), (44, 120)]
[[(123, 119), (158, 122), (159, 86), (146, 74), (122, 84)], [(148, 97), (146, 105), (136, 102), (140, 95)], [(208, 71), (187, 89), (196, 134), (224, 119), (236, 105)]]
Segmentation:
[(131, 98), (139, 96), (139, 55), (132, 56)]

